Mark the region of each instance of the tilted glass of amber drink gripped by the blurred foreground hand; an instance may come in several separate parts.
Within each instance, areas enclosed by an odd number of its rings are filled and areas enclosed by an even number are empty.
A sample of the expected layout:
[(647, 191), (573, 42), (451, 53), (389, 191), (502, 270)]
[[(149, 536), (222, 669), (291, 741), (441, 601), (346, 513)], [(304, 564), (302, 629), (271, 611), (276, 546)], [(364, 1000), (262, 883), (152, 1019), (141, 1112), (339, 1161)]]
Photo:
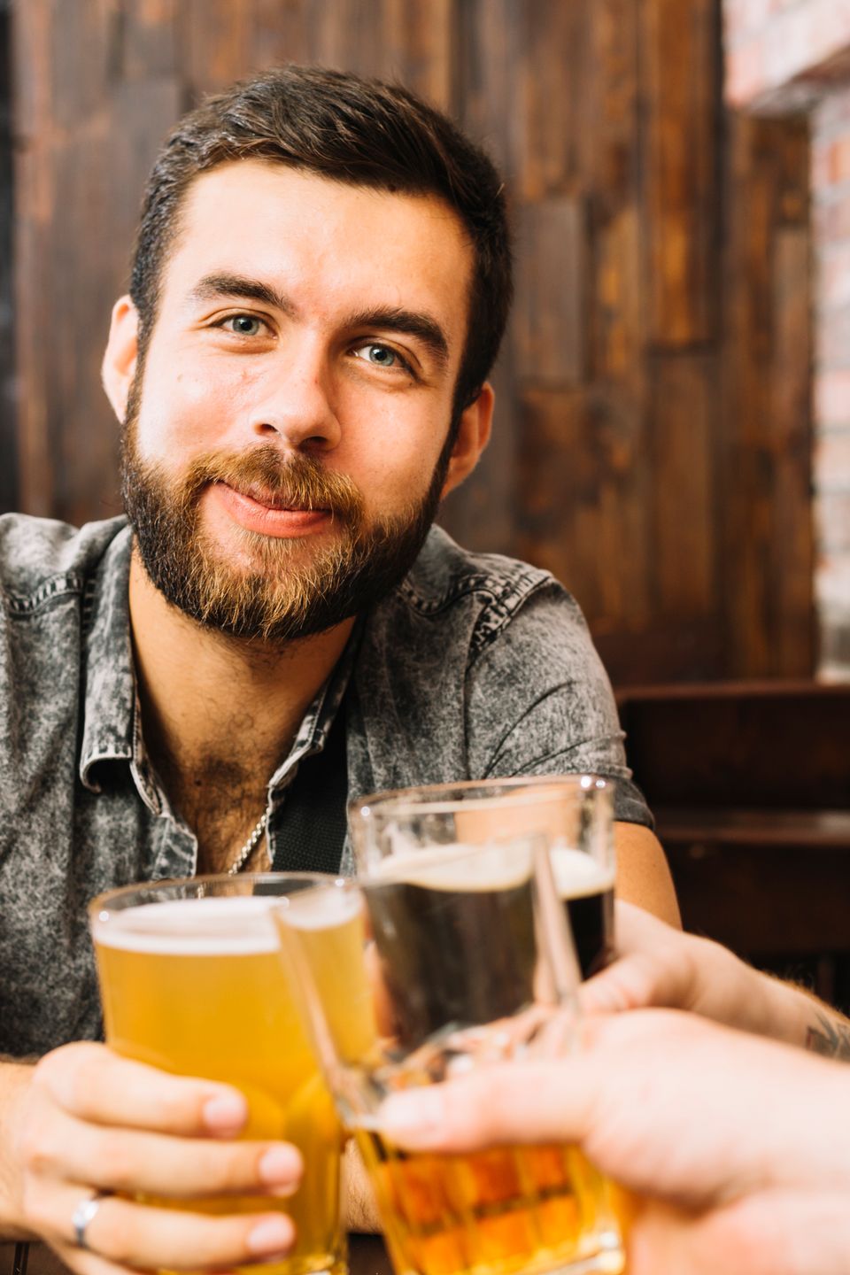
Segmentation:
[(408, 1153), (380, 1126), (389, 1094), (575, 1047), (580, 973), (545, 839), (396, 852), (274, 919), (398, 1275), (621, 1272), (610, 1186), (576, 1148)]

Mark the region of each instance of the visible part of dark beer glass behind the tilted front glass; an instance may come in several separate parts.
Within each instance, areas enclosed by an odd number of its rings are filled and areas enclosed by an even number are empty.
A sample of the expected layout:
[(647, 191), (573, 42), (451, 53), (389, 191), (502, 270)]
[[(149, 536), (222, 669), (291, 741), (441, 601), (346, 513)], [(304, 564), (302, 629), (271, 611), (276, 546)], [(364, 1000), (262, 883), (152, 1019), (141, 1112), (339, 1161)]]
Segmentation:
[(393, 854), (538, 834), (589, 978), (614, 954), (613, 787), (596, 775), (547, 775), (363, 797), (349, 807), (358, 871), (370, 876)]

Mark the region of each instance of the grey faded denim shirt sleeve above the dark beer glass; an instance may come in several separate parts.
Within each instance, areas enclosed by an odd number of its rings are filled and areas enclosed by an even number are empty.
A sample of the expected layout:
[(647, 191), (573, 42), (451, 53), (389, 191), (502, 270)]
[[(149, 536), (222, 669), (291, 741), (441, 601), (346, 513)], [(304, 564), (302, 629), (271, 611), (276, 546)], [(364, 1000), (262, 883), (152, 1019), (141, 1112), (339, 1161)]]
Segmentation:
[(608, 674), (573, 598), (535, 589), (468, 671), (470, 775), (595, 774), (616, 782), (614, 817), (652, 827), (626, 764)]

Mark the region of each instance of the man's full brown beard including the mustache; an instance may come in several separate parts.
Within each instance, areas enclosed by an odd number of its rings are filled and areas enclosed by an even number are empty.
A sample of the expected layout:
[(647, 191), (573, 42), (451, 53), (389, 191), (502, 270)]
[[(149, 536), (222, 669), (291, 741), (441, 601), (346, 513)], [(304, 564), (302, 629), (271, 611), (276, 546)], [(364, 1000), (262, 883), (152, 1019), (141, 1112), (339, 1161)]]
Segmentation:
[[(144, 570), (167, 602), (229, 638), (278, 646), (367, 609), (410, 570), (440, 504), (447, 449), (418, 504), (370, 523), (350, 478), (269, 444), (200, 455), (180, 479), (168, 478), (139, 456), (135, 414), (122, 435), (121, 487)], [(200, 499), (214, 482), (326, 510), (331, 536), (288, 539), (234, 524), (237, 553), (228, 558), (200, 525)]]

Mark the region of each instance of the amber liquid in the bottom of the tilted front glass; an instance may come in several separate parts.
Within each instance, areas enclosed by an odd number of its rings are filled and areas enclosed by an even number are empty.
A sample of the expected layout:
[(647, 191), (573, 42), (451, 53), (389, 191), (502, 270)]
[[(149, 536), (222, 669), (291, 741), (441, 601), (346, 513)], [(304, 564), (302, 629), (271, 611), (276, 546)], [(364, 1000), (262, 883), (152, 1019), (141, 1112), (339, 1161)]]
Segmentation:
[(575, 1148), (410, 1155), (357, 1141), (398, 1275), (623, 1270), (608, 1186)]

